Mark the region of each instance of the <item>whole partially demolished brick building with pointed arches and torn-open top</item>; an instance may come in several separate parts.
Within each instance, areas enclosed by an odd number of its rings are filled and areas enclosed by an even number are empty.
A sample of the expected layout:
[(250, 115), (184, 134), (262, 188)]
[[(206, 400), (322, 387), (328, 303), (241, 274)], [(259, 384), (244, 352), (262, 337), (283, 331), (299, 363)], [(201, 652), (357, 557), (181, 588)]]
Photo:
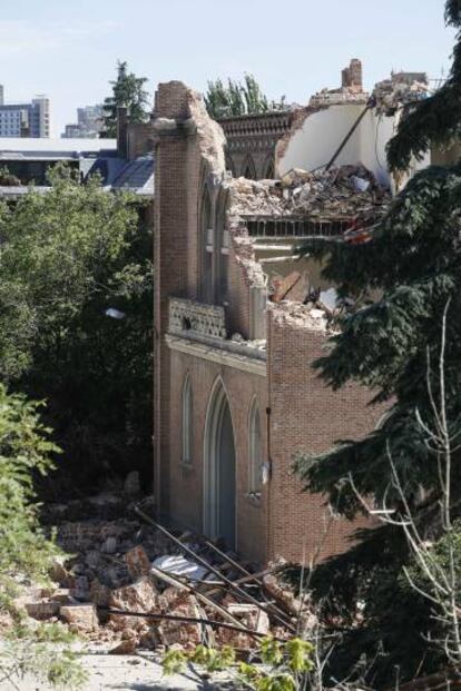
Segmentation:
[(293, 456), (359, 438), (380, 412), (366, 389), (332, 392), (313, 371), (335, 292), (294, 250), (320, 235), (366, 239), (394, 185), (384, 162), (394, 116), (352, 99), (288, 125), (275, 179), (233, 177), (202, 98), (176, 81), (156, 95), (157, 503), (262, 563), (325, 557), (351, 535), (322, 496), (302, 493)]

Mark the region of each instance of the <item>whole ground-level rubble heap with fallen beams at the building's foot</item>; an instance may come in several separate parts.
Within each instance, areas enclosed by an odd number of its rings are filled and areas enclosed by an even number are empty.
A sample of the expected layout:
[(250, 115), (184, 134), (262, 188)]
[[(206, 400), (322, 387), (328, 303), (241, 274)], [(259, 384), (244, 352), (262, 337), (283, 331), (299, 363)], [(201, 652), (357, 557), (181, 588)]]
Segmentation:
[(104, 493), (48, 505), (45, 520), (57, 524), (67, 556), (55, 561), (52, 586), (30, 584), (16, 608), (109, 643), (114, 654), (205, 643), (245, 655), (264, 635), (293, 634), (300, 614), (310, 621), (281, 586), (279, 564), (261, 571), (239, 562), (203, 536), (157, 524), (150, 500), (130, 500)]

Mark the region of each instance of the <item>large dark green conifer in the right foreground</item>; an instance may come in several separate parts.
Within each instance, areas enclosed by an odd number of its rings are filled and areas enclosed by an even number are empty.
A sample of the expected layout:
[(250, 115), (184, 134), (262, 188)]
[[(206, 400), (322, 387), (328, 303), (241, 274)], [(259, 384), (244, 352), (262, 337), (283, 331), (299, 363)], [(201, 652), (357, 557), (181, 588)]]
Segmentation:
[[(421, 158), (432, 145), (449, 145), (460, 135), (459, 0), (447, 1), (445, 19), (458, 31), (449, 79), (435, 95), (404, 111), (388, 150), (393, 170), (406, 169), (412, 157)], [(306, 487), (326, 493), (347, 519), (363, 511), (350, 477), (360, 494), (374, 496), (377, 504), (385, 498), (399, 515), (402, 497), (391, 482), (391, 457), (422, 533), (438, 534), (438, 454), (425, 444), (418, 415), (429, 424), (428, 367), (435, 399), (443, 393), (432, 373), (439, 363), (442, 315), (449, 305), (444, 396), (450, 434), (461, 430), (460, 231), (461, 164), (457, 164), (419, 172), (379, 220), (369, 243), (310, 244), (310, 251), (326, 261), (324, 276), (340, 286), (341, 295), (357, 298), (352, 314), (340, 319), (341, 330), (331, 339), (330, 353), (315, 366), (333, 388), (359, 382), (373, 388), (374, 401), (389, 406), (382, 424), (363, 441), (340, 441), (321, 457), (296, 461)], [(371, 299), (372, 290), (381, 296), (377, 300)], [(459, 515), (460, 451), (454, 454), (451, 482), (453, 513)], [(381, 683), (391, 681), (394, 667), (408, 677), (419, 668), (430, 669), (438, 653), (423, 634), (434, 633), (437, 622), (402, 576), (402, 565), (411, 559), (402, 534), (388, 525), (362, 531), (359, 537), (359, 544), (322, 565), (312, 580), (317, 594), (332, 589), (330, 613), (349, 616), (351, 623), (356, 621), (357, 602), (364, 603), (363, 624), (345, 636), (332, 664), (351, 671), (360, 655), (367, 654), (373, 659), (370, 678)]]

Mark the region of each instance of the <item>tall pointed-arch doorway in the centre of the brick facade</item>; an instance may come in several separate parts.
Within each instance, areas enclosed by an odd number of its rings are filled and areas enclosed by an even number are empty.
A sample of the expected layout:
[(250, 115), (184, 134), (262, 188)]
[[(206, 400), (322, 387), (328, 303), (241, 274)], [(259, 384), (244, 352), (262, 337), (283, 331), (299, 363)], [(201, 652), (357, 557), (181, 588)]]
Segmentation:
[(230, 408), (218, 379), (208, 404), (205, 426), (204, 532), (235, 547), (235, 443)]

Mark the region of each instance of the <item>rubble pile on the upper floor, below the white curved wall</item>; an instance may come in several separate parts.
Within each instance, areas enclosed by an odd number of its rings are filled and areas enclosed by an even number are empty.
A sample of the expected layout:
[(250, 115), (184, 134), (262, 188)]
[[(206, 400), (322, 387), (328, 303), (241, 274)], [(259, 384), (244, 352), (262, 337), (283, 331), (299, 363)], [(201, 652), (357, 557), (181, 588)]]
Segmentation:
[(294, 168), (281, 180), (237, 178), (228, 186), (232, 214), (243, 217), (372, 221), (391, 200), (390, 191), (362, 165), (313, 172)]

